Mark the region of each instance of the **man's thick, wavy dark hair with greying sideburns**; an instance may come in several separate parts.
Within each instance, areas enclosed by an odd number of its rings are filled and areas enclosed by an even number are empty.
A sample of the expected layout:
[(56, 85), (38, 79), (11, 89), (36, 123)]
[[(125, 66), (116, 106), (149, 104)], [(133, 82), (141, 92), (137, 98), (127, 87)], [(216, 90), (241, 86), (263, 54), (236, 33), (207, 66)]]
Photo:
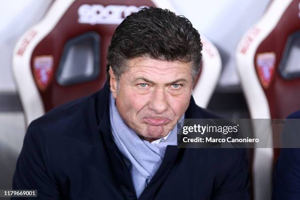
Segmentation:
[(106, 65), (119, 81), (128, 69), (126, 61), (139, 56), (192, 63), (193, 80), (199, 73), (202, 44), (200, 34), (184, 16), (167, 9), (141, 8), (117, 27), (108, 48)]

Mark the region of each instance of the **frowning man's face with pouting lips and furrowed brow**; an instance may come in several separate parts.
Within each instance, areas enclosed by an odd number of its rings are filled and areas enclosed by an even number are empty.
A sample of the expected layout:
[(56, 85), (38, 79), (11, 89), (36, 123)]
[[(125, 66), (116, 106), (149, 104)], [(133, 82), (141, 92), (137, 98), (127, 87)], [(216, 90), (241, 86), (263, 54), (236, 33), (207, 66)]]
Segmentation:
[(193, 81), (190, 63), (137, 57), (117, 81), (110, 69), (110, 89), (118, 111), (140, 137), (165, 137), (187, 110)]

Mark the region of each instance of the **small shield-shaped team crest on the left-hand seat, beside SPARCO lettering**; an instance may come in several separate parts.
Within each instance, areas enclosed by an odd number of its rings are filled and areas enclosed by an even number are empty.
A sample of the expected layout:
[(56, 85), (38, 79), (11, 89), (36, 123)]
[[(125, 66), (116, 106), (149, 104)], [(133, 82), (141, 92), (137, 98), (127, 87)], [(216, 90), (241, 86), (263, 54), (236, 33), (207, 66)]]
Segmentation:
[(39, 89), (45, 91), (52, 77), (53, 57), (51, 55), (36, 56), (33, 72)]

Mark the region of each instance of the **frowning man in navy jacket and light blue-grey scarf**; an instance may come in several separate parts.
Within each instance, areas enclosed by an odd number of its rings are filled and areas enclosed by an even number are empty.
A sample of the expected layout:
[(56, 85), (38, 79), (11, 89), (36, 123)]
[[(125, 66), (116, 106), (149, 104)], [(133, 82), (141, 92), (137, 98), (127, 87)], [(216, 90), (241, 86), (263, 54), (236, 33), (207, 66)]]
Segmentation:
[(195, 104), (198, 31), (144, 8), (116, 29), (107, 84), (28, 127), (14, 189), (41, 199), (247, 200), (244, 150), (176, 148), (176, 122), (215, 118)]

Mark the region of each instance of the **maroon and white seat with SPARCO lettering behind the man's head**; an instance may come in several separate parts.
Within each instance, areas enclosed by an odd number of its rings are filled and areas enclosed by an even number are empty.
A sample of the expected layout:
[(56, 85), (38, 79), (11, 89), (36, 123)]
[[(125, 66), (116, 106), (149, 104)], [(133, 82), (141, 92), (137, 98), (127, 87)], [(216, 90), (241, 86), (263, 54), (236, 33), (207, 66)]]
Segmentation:
[[(25, 124), (100, 90), (115, 28), (125, 16), (145, 6), (175, 10), (168, 0), (55, 0), (44, 19), (20, 38), (13, 53)], [(205, 107), (221, 72), (221, 58), (207, 39), (203, 41), (204, 64), (195, 99)]]

